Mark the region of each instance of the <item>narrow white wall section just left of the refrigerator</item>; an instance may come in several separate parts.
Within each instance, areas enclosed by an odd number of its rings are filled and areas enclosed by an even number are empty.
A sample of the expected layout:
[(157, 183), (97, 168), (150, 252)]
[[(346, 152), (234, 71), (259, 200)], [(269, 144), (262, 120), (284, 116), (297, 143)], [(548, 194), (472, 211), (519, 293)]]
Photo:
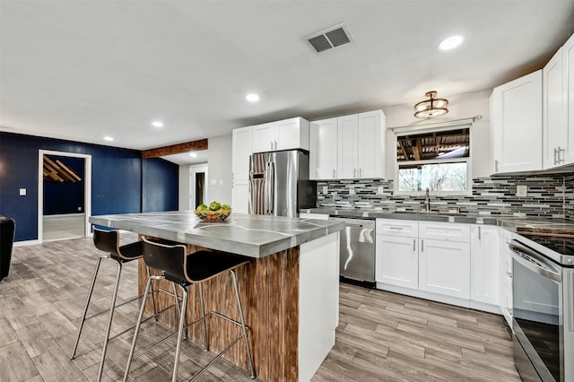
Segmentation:
[(231, 204), (231, 135), (209, 138), (207, 201)]

